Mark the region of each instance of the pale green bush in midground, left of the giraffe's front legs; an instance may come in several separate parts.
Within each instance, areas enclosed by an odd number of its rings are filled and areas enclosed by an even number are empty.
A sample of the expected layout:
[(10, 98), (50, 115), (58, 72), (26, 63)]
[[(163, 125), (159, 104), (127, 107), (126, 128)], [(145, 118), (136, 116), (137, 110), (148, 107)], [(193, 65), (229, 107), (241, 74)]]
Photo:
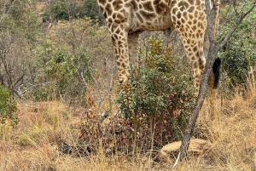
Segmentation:
[(84, 94), (84, 82), (92, 83), (92, 61), (86, 53), (68, 54), (59, 49), (47, 63), (49, 85), (36, 88), (34, 100), (54, 100)]

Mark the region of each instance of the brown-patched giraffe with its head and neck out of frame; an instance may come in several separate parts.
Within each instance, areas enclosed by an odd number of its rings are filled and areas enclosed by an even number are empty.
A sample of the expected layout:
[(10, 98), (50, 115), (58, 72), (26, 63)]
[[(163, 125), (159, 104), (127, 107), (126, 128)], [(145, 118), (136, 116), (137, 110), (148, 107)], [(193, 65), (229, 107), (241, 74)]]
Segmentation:
[[(206, 66), (205, 56), (209, 49), (205, 0), (97, 1), (111, 33), (119, 83), (126, 83), (128, 80), (129, 73), (126, 67), (137, 65), (139, 34), (143, 31), (171, 29), (176, 30), (182, 40), (189, 65), (193, 70), (195, 91), (198, 94), (201, 75)], [(216, 35), (220, 0), (209, 1), (215, 5)]]

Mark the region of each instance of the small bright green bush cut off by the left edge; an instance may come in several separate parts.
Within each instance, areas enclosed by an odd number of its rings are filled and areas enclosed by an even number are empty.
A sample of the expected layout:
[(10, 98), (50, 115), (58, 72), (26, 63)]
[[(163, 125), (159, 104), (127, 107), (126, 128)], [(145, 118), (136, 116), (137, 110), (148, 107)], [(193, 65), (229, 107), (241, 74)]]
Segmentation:
[(0, 123), (6, 123), (6, 120), (9, 120), (12, 124), (17, 124), (19, 119), (15, 114), (16, 109), (17, 103), (9, 89), (0, 85)]

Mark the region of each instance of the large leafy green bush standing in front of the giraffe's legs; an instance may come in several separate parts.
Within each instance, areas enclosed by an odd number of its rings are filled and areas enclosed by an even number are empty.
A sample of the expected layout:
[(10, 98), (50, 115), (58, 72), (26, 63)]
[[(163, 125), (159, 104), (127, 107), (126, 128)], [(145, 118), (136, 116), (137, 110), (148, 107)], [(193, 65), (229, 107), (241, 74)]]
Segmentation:
[(161, 53), (159, 39), (151, 38), (148, 43), (150, 49), (144, 59), (145, 66), (130, 69), (130, 83), (123, 86), (117, 103), (141, 134), (152, 131), (155, 125), (155, 142), (165, 144), (169, 140), (181, 140), (195, 104), (193, 83), (189, 75), (177, 69), (169, 48)]

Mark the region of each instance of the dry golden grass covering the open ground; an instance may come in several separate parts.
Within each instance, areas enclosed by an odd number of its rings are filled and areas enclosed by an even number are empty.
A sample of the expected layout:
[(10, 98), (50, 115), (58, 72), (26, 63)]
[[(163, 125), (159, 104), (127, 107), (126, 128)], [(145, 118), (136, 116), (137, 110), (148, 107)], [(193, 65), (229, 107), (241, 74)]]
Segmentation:
[[(59, 151), (61, 141), (79, 142), (80, 117), (85, 109), (58, 102), (20, 102), (16, 128), (1, 125), (0, 170), (170, 170), (173, 161), (154, 162), (148, 153), (133, 156), (101, 151), (78, 157)], [(189, 154), (175, 170), (256, 170), (256, 94), (234, 100), (205, 101), (198, 120), (201, 134), (212, 141), (202, 156)], [(215, 119), (212, 121), (212, 116)], [(100, 140), (99, 140), (100, 142)]]

